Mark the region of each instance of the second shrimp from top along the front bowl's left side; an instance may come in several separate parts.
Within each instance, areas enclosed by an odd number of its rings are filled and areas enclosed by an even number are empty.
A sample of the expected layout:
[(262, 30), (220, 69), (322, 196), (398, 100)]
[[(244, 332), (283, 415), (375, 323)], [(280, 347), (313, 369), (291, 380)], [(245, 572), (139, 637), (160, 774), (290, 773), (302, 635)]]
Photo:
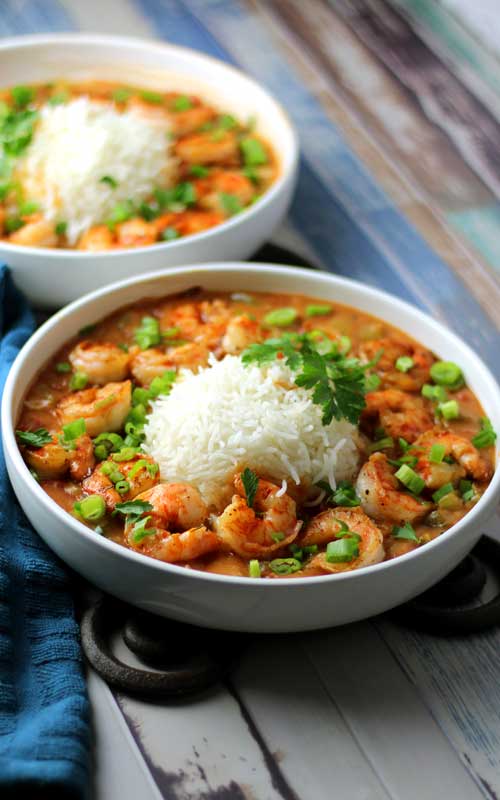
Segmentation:
[(130, 411), (131, 399), (130, 381), (107, 383), (62, 397), (57, 411), (63, 425), (83, 417), (89, 436), (98, 436), (122, 428)]

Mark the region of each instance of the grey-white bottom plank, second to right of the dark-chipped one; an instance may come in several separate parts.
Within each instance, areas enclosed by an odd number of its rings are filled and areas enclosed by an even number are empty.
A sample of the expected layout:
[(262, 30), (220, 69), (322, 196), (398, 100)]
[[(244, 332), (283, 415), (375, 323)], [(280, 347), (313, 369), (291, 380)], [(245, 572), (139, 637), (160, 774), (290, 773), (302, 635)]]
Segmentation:
[(319, 677), (391, 796), (483, 796), (370, 623), (304, 637)]

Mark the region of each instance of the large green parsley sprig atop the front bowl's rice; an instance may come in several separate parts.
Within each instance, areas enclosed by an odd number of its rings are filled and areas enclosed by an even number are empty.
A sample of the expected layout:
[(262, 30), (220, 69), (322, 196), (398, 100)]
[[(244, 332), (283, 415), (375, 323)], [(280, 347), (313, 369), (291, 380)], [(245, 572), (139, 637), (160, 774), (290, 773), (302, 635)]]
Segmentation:
[(242, 356), (243, 364), (263, 366), (280, 359), (295, 372), (295, 383), (312, 390), (312, 400), (323, 409), (323, 425), (335, 419), (359, 422), (365, 407), (365, 373), (372, 364), (347, 357), (338, 348), (319, 353), (307, 334), (285, 334), (251, 345)]

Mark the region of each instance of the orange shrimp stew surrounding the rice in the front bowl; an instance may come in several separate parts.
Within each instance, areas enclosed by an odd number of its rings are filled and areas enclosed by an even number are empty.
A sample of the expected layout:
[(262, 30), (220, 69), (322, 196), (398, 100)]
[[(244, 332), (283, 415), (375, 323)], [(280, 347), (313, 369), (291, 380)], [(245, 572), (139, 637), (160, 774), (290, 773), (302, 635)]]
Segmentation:
[[(284, 334), (307, 334), (308, 341), (322, 343), (323, 352), (330, 347), (344, 358), (369, 362), (357, 437), (359, 466), (352, 483), (340, 493), (324, 492), (311, 505), (290, 480), (285, 495), (289, 529), (271, 528), (266, 547), (247, 554), (235, 552), (227, 541), (217, 543), (214, 519), (227, 510), (224, 506), (205, 508), (187, 524), (179, 513), (168, 525), (163, 519), (163, 528), (156, 507), (132, 518), (113, 513), (117, 503), (150, 497), (160, 481), (157, 465), (140, 449), (148, 411), (144, 391), (154, 390), (156, 396), (168, 391), (176, 370), (205, 366), (209, 353), (220, 359)], [(300, 295), (193, 289), (138, 302), (75, 332), (40, 372), (18, 422), (21, 431), (48, 431), (49, 443), (30, 445), (21, 436), (20, 446), (56, 503), (82, 519), (78, 503), (103, 498), (106, 509), (99, 519), (82, 521), (96, 535), (145, 555), (208, 572), (272, 579), (356, 569), (403, 555), (439, 536), (473, 507), (491, 478), (495, 435), (488, 435), (480, 402), (464, 384), (459, 365), (452, 365), (450, 373), (443, 363), (401, 331), (352, 308)], [(87, 433), (62, 433), (68, 421), (85, 414)], [(110, 441), (99, 439), (103, 430), (121, 437), (114, 450)], [(106, 475), (103, 465), (108, 465)], [(246, 466), (251, 470), (251, 464)], [(228, 486), (235, 478), (238, 502), (248, 514), (241, 478), (229, 476)], [(285, 502), (275, 497), (278, 485), (266, 476), (256, 479), (250, 538), (252, 524), (266, 518), (266, 502)], [(193, 499), (186, 498), (192, 506)], [(196, 506), (200, 501), (195, 501)], [(196, 545), (192, 557), (183, 557), (191, 552), (181, 547), (186, 528), (205, 537), (207, 552)]]

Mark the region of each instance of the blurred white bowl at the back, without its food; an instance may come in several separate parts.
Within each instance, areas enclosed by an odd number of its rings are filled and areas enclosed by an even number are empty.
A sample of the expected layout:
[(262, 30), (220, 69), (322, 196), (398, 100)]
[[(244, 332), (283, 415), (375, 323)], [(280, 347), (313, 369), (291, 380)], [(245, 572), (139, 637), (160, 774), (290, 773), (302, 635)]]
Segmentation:
[(165, 267), (244, 259), (285, 216), (297, 173), (298, 143), (282, 107), (239, 70), (209, 56), (144, 39), (50, 34), (0, 42), (2, 86), (102, 78), (149, 89), (199, 93), (239, 119), (256, 117), (256, 130), (277, 154), (275, 183), (249, 209), (227, 222), (171, 242), (113, 252), (87, 253), (21, 247), (0, 241), (0, 261), (39, 307), (56, 308), (117, 280)]

